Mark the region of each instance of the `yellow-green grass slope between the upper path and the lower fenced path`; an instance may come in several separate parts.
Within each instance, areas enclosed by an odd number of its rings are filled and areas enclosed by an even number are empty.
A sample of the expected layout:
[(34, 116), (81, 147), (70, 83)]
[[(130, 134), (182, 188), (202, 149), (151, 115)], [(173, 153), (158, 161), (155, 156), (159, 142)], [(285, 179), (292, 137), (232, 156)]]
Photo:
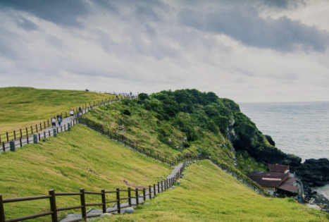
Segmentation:
[[(80, 188), (100, 192), (101, 189), (152, 185), (170, 173), (169, 166), (160, 164), (113, 142), (97, 132), (77, 125), (58, 138), (30, 144), (17, 152), (0, 155), (0, 194), (4, 199), (46, 195), (56, 192), (78, 192)], [(115, 199), (112, 196), (111, 199)], [(73, 197), (60, 197), (58, 206), (77, 206)], [(40, 200), (6, 204), (7, 219), (41, 211), (49, 211), (49, 201)], [(101, 202), (101, 199), (87, 199)], [(13, 211), (15, 209), (15, 211)], [(37, 219), (36, 221), (40, 221)], [(49, 221), (48, 217), (44, 221)]]

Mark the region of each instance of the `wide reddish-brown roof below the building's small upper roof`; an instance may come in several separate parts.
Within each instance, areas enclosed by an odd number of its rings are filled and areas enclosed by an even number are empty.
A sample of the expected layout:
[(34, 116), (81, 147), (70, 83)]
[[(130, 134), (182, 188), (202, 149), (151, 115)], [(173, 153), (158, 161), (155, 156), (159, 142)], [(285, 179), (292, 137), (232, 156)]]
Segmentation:
[(286, 173), (276, 172), (249, 173), (247, 176), (261, 187), (279, 187), (289, 177)]

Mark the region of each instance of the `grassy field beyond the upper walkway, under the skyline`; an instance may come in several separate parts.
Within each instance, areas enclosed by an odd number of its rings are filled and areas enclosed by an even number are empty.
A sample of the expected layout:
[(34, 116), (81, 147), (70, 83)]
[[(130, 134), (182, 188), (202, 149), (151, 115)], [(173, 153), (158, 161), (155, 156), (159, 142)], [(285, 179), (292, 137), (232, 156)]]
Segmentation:
[(109, 97), (109, 94), (77, 90), (0, 88), (0, 132), (25, 128), (89, 101)]

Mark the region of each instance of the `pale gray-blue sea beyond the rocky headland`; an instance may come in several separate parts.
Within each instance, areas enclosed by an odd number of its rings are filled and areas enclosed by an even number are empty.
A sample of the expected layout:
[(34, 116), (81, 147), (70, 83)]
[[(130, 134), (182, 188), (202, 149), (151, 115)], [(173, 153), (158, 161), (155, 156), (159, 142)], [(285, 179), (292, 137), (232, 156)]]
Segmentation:
[[(240, 103), (275, 147), (305, 159), (329, 159), (329, 101)], [(329, 185), (319, 187), (329, 199)]]

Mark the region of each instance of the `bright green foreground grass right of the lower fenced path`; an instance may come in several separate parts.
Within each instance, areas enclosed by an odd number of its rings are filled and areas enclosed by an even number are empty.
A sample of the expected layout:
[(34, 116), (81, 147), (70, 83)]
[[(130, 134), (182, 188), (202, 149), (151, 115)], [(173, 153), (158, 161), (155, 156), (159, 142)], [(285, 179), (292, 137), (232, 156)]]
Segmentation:
[(134, 214), (99, 218), (109, 221), (328, 221), (328, 214), (293, 199), (256, 195), (227, 173), (202, 161), (192, 164), (179, 185)]

